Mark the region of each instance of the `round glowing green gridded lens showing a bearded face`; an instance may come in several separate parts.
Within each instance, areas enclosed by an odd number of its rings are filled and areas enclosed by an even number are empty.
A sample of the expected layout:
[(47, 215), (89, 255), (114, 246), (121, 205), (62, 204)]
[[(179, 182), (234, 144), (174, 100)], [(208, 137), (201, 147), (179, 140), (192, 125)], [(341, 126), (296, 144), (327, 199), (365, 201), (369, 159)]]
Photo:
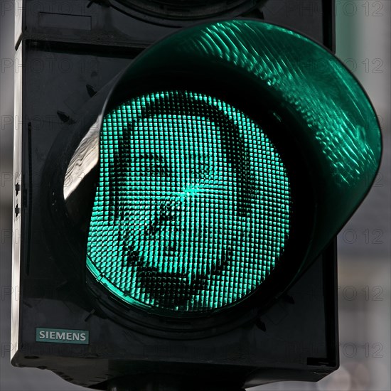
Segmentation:
[(105, 116), (87, 267), (128, 304), (181, 316), (241, 301), (279, 262), (290, 215), (281, 156), (227, 103), (156, 92)]

